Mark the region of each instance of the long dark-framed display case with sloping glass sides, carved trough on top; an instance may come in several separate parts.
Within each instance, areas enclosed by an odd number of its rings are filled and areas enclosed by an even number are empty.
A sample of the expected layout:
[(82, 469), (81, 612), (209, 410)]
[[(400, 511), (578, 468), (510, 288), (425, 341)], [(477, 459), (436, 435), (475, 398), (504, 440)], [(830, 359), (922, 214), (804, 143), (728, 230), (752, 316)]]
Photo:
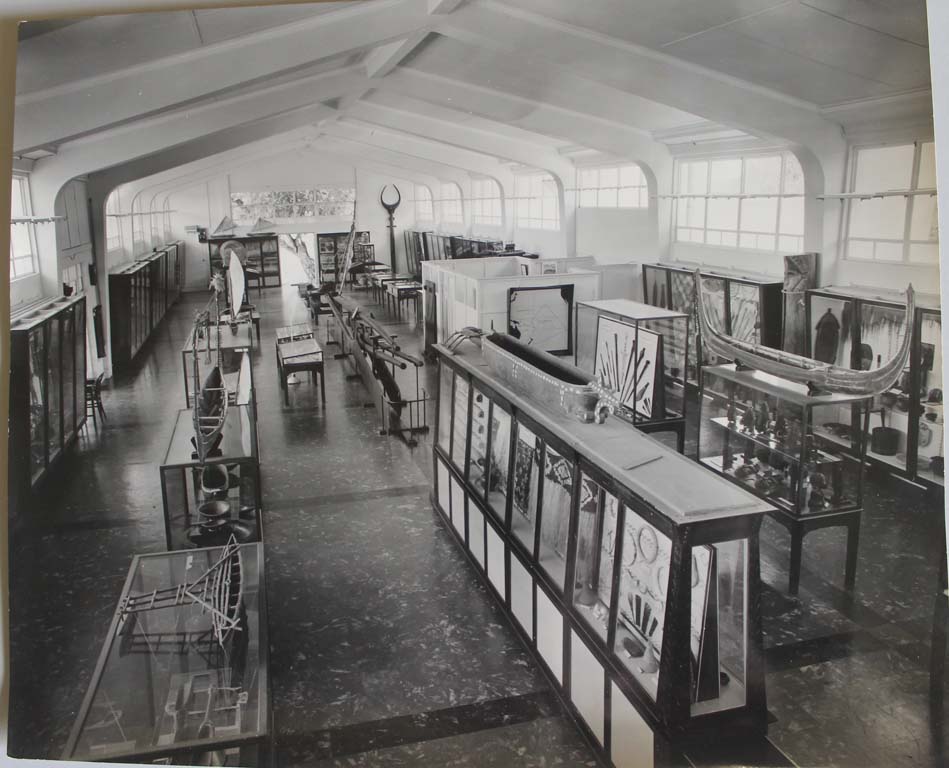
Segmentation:
[(594, 423), (591, 377), (560, 358), (512, 374), (474, 345), (435, 349), (433, 504), (604, 755), (639, 764), (632, 742), (763, 733), (769, 505), (613, 417)]

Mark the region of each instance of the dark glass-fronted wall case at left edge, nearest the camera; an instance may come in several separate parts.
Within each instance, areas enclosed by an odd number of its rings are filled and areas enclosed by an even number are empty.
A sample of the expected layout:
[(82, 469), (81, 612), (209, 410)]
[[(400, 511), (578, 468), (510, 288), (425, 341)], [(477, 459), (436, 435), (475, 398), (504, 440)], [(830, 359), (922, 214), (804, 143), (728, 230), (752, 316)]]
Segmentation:
[(10, 507), (16, 514), (86, 421), (86, 301), (43, 302), (10, 320)]

